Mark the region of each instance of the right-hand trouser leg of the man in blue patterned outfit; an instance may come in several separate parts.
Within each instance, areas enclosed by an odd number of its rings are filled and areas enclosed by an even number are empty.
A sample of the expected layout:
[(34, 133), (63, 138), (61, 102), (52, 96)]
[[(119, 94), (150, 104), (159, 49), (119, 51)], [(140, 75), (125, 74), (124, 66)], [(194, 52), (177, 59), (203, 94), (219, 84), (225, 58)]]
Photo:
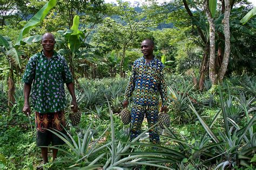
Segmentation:
[[(158, 121), (158, 105), (148, 106), (146, 110), (147, 125), (153, 126)], [(157, 133), (157, 127), (152, 128), (149, 131), (150, 142), (153, 144), (160, 144), (159, 134)]]

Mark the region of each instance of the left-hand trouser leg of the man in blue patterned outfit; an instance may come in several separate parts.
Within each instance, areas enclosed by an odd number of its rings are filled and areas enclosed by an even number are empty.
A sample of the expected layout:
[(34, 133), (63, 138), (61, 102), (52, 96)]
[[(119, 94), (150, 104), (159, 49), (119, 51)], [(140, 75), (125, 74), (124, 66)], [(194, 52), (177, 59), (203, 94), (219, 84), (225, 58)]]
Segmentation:
[(134, 104), (131, 112), (131, 135), (130, 141), (138, 137), (142, 128), (145, 115), (145, 106)]

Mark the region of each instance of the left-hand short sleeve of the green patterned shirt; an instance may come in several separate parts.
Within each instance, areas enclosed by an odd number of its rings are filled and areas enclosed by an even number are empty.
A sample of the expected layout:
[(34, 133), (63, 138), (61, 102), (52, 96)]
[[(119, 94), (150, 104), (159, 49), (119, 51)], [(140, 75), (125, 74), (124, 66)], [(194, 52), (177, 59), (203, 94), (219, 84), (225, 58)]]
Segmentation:
[(23, 74), (23, 83), (32, 84), (36, 76), (36, 57), (32, 56), (26, 65), (26, 70)]

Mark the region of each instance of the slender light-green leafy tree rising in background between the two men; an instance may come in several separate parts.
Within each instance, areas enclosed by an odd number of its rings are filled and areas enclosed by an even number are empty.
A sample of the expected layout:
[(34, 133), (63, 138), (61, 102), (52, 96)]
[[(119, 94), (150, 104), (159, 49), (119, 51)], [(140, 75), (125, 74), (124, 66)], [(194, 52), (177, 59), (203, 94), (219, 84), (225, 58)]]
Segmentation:
[[(103, 24), (98, 26), (98, 32), (94, 36), (94, 40), (98, 44), (111, 46), (113, 50), (121, 51), (121, 60), (119, 65), (119, 73), (124, 77), (124, 61), (125, 52), (134, 45), (138, 45), (139, 33), (148, 31), (150, 22), (143, 21), (144, 13), (139, 13), (129, 7), (127, 2), (118, 2), (115, 10), (122, 19), (123, 23), (117, 23), (111, 18), (105, 18)], [(112, 50), (110, 50), (112, 51)]]

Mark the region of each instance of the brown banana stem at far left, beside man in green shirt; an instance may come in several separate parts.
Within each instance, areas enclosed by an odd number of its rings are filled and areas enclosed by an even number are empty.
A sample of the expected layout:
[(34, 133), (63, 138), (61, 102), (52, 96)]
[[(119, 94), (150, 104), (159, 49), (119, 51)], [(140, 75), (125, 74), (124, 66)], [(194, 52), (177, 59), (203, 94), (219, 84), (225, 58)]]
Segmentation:
[(15, 94), (14, 71), (11, 68), (9, 73), (9, 80), (8, 80), (8, 112), (11, 111), (11, 108), (15, 103), (14, 94)]

